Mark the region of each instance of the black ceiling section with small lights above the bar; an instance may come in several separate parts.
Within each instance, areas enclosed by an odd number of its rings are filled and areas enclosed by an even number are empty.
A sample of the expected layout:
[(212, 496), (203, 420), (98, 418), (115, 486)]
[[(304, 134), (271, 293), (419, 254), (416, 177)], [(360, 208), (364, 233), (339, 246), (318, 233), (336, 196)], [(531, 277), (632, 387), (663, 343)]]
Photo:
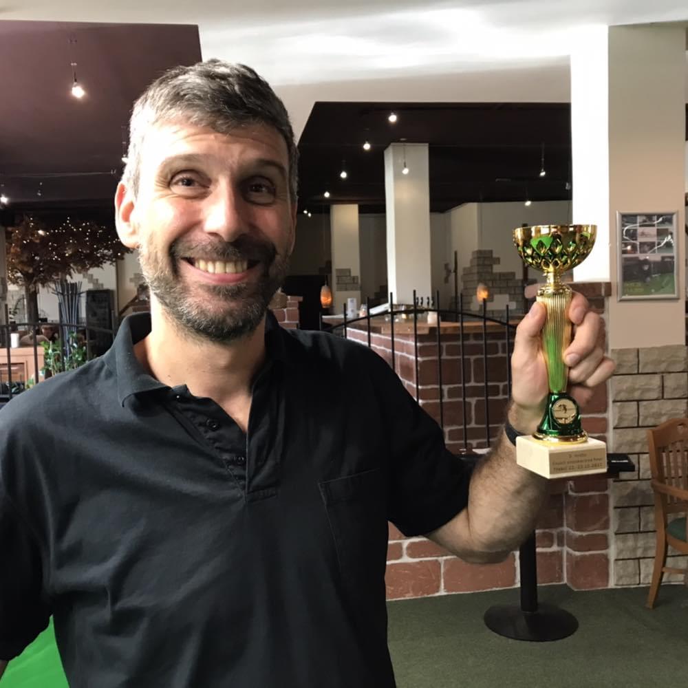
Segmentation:
[[(394, 124), (387, 120), (391, 111)], [(384, 151), (404, 139), (429, 144), (433, 212), (466, 202), (524, 201), (526, 193), (533, 201), (570, 197), (568, 103), (316, 103), (299, 142), (300, 209), (317, 213), (346, 202), (384, 212)]]

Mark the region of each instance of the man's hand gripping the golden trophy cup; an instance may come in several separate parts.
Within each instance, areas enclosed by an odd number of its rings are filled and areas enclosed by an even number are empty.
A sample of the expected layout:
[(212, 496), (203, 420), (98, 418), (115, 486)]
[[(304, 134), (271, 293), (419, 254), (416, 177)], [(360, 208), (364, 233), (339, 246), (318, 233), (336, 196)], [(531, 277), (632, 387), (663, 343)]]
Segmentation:
[[(592, 388), (612, 375), (614, 362), (604, 355), (600, 316), (590, 310), (581, 294), (574, 292), (568, 317), (573, 323), (572, 341), (563, 354), (564, 363), (570, 367), (568, 392), (584, 407), (592, 397)], [(511, 356), (513, 405), (509, 420), (522, 432), (535, 430), (549, 391), (540, 336), (545, 319), (544, 305), (533, 303), (516, 328)]]

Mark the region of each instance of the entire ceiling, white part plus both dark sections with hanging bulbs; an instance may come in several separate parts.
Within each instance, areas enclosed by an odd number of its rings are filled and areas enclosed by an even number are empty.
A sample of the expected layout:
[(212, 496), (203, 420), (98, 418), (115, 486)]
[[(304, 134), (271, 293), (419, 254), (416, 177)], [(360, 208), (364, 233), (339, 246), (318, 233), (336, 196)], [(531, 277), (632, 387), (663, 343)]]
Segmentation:
[[(571, 45), (590, 25), (687, 19), (674, 0), (0, 0), (0, 83), (12, 94), (0, 99), (0, 183), (17, 204), (111, 207), (133, 99), (202, 54), (248, 63), (275, 86), (315, 211), (325, 185), (331, 201), (381, 209), (383, 150), (400, 138), (430, 144), (433, 210), (521, 200), (530, 179), (533, 200), (567, 197)], [(69, 36), (82, 101), (69, 95)]]

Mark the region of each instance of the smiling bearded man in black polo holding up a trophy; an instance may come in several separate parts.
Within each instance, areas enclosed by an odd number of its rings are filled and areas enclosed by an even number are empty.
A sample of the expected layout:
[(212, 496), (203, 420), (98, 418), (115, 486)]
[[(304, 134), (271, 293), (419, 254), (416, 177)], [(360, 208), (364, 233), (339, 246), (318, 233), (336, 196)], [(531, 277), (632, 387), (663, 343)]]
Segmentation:
[[(387, 519), (498, 561), (547, 483), (502, 433), (469, 486), (380, 357), (266, 315), (294, 246), (297, 150), (255, 72), (171, 70), (130, 140), (116, 218), (151, 313), (0, 415), (0, 657), (52, 614), (72, 685), (393, 687)], [(570, 317), (584, 402), (613, 366), (585, 299)], [(514, 345), (522, 432), (547, 392), (543, 322), (535, 306)]]

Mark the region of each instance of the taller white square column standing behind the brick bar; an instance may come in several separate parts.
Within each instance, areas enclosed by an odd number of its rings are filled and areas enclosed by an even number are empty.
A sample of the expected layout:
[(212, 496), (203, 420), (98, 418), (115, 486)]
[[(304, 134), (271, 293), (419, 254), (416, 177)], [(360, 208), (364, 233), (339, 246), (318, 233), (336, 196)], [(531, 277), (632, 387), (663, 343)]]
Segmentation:
[(393, 143), (385, 151), (387, 281), (396, 303), (413, 303), (414, 289), (432, 292), (428, 166), (427, 144)]

